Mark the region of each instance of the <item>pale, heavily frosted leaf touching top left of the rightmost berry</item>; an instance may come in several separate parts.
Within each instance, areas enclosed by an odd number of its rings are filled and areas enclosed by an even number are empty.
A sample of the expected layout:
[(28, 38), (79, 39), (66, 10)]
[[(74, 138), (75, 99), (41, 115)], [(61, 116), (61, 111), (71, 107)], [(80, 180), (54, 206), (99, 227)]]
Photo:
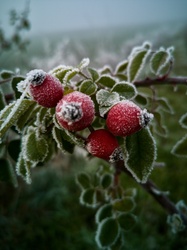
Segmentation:
[(100, 89), (96, 94), (96, 100), (101, 106), (112, 106), (120, 101), (119, 94)]

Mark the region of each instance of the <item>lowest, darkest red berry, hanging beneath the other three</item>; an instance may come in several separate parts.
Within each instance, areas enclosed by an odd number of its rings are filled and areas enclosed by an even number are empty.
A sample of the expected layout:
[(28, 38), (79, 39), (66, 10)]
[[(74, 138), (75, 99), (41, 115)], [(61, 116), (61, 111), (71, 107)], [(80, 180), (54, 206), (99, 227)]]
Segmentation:
[(119, 143), (106, 129), (91, 132), (86, 140), (86, 149), (90, 154), (101, 159), (109, 161), (121, 159)]

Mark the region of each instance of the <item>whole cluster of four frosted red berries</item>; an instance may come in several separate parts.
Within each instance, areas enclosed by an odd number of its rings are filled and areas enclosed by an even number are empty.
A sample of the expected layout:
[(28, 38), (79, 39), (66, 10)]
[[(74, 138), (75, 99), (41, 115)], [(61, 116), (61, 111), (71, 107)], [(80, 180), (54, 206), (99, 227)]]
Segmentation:
[[(94, 102), (90, 96), (79, 91), (64, 95), (61, 82), (42, 70), (33, 70), (27, 76), (29, 93), (38, 104), (56, 107), (56, 118), (60, 126), (69, 131), (80, 131), (89, 127), (95, 116)], [(116, 136), (129, 136), (146, 127), (153, 118), (132, 101), (121, 101), (111, 107), (106, 118), (106, 129), (94, 130), (86, 139), (85, 147), (93, 156), (115, 161), (121, 159)]]

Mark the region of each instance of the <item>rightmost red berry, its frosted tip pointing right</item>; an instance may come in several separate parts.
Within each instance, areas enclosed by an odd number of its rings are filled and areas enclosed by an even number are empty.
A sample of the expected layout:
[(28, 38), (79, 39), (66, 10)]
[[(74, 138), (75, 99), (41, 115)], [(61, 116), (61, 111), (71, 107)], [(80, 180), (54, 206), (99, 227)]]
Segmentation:
[(106, 125), (115, 136), (128, 136), (145, 128), (153, 119), (146, 109), (141, 109), (132, 101), (121, 101), (108, 112)]

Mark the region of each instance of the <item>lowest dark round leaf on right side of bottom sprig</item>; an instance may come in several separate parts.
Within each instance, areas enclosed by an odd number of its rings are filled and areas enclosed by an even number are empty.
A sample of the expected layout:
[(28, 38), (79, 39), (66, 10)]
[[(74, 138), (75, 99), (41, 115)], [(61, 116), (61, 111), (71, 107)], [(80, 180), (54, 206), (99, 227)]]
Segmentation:
[(125, 231), (130, 231), (136, 224), (137, 219), (133, 214), (122, 213), (118, 216), (120, 227)]

